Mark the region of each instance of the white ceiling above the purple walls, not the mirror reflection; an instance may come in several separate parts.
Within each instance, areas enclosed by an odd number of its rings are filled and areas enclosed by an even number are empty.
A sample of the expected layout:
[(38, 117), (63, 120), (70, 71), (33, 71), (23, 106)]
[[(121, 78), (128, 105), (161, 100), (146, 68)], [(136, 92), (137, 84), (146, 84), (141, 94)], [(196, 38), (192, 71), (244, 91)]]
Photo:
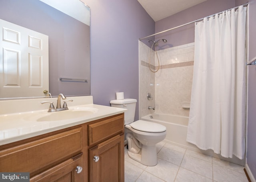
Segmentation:
[(206, 0), (138, 0), (156, 22)]

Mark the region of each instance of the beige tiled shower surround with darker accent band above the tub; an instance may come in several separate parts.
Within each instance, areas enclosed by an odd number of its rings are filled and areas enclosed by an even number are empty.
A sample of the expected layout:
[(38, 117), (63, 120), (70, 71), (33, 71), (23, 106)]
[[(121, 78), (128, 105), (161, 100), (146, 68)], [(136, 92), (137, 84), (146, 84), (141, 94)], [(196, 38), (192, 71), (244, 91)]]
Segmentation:
[[(158, 72), (150, 72), (148, 58), (150, 48), (140, 41), (140, 99), (139, 117), (152, 112), (158, 114), (171, 114), (188, 116), (189, 109), (183, 108), (182, 104), (190, 102), (193, 65), (194, 65), (194, 43), (171, 47), (157, 51), (160, 61)], [(156, 48), (157, 49), (157, 48)], [(153, 68), (158, 68), (156, 54)], [(153, 61), (151, 61), (151, 64)], [(153, 100), (147, 100), (148, 92)], [(148, 106), (154, 106), (155, 110), (148, 110)]]

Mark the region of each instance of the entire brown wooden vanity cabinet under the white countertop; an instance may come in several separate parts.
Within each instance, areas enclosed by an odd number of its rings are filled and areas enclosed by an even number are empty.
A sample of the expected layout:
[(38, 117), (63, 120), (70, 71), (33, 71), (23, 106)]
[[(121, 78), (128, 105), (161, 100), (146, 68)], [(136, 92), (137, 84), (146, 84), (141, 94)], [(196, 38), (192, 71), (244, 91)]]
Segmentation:
[(2, 145), (0, 171), (30, 172), (30, 182), (124, 182), (124, 113)]

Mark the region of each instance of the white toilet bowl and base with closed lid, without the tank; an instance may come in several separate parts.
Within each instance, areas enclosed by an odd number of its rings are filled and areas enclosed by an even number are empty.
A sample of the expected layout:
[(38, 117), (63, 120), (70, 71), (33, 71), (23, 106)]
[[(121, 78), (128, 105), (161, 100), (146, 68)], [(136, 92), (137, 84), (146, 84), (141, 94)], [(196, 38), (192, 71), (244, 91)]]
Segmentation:
[(156, 144), (166, 137), (166, 127), (138, 120), (125, 125), (128, 156), (146, 166), (157, 164)]

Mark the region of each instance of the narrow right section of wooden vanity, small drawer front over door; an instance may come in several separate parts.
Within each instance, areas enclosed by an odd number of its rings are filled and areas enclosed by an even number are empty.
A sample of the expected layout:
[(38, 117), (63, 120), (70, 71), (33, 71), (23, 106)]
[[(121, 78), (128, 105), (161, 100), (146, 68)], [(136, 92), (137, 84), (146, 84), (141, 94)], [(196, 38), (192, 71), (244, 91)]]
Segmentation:
[(89, 181), (124, 182), (124, 117), (88, 125)]

